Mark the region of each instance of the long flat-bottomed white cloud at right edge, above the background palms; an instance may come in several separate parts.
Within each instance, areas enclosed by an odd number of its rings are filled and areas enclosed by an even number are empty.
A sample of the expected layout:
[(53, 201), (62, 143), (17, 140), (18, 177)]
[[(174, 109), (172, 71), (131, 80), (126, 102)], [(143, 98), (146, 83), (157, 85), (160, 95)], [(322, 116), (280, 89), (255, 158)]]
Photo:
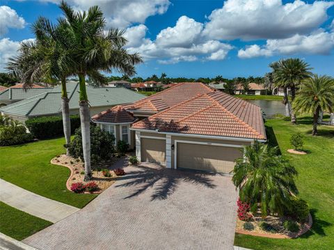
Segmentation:
[(274, 54), (330, 54), (334, 49), (334, 33), (318, 29), (309, 36), (296, 34), (291, 38), (267, 40), (266, 45), (240, 49), (239, 58), (272, 56)]

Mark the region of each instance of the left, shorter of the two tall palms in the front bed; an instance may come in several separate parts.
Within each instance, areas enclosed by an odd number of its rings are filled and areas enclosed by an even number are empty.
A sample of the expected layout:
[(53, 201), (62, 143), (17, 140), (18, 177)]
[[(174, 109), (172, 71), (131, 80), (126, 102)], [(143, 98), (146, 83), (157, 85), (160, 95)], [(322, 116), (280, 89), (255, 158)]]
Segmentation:
[[(72, 75), (70, 65), (74, 61), (65, 49), (57, 45), (50, 33), (44, 31), (45, 25), (52, 32), (62, 29), (61, 26), (51, 26), (48, 19), (40, 17), (32, 26), (35, 41), (22, 42), (18, 56), (9, 59), (7, 69), (22, 79), (24, 88), (29, 88), (34, 82), (42, 79), (56, 78), (61, 81), (63, 130), (68, 146), (71, 140), (71, 125), (66, 77)], [(67, 147), (66, 154), (69, 155)]]

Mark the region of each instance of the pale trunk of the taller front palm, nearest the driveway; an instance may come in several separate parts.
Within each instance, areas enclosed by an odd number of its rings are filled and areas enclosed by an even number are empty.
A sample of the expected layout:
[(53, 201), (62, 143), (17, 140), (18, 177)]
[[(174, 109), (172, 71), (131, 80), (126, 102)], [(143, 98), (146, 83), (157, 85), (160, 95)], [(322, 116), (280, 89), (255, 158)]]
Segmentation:
[(90, 111), (88, 107), (88, 96), (86, 92), (85, 75), (79, 74), (79, 110), (81, 121), (82, 150), (85, 162), (85, 181), (91, 179), (92, 169), (90, 166)]

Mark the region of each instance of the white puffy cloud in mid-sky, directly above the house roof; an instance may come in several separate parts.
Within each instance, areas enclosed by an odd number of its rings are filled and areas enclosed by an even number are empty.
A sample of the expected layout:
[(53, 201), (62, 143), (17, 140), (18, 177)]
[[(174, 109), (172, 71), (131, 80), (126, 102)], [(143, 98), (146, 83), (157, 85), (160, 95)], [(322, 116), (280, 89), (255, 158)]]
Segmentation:
[(145, 38), (143, 24), (128, 28), (127, 38), (134, 38), (129, 52), (139, 52), (143, 58), (158, 59), (158, 63), (174, 64), (181, 61), (223, 60), (232, 45), (202, 36), (203, 25), (186, 16), (175, 26), (163, 29), (155, 40)]

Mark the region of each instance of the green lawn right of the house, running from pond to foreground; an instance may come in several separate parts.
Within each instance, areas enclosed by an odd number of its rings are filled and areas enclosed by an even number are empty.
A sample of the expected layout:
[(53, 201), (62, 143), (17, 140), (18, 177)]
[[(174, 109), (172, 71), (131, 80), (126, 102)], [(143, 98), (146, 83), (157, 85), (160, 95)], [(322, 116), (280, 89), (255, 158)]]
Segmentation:
[[(299, 118), (299, 125), (284, 120), (268, 120), (266, 125), (275, 144), (296, 167), (299, 176), (296, 184), (301, 198), (308, 201), (314, 224), (311, 231), (295, 240), (274, 240), (264, 237), (238, 235), (234, 244), (250, 249), (333, 249), (334, 246), (334, 127), (320, 125), (319, 135), (311, 136), (311, 118)], [(275, 135), (270, 133), (273, 131)], [(308, 155), (287, 153), (292, 133), (305, 136), (304, 150)]]

